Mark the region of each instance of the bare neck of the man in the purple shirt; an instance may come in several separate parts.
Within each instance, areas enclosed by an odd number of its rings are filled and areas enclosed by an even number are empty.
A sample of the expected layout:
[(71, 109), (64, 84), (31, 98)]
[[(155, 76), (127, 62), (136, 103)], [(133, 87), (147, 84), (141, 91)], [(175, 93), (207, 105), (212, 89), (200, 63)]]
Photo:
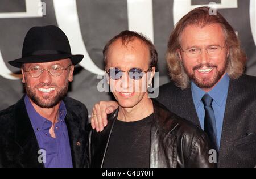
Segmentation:
[(51, 121), (53, 125), (57, 122), (60, 103), (53, 106), (52, 108), (41, 108), (40, 106), (36, 105), (31, 99), (30, 102), (35, 108), (36, 112), (38, 112), (44, 118), (47, 118), (47, 120)]

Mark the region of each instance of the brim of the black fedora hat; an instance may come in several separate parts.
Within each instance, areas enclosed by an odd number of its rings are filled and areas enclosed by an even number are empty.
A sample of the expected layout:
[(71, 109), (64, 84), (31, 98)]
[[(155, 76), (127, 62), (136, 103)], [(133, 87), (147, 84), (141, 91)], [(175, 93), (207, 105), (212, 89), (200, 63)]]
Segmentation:
[(19, 58), (13, 61), (9, 61), (8, 63), (11, 66), (20, 68), (24, 63), (44, 63), (44, 62), (59, 61), (61, 59), (66, 59), (66, 58), (71, 59), (72, 64), (76, 65), (82, 61), (82, 58), (84, 58), (84, 55), (48, 54), (48, 55), (29, 56), (29, 57)]

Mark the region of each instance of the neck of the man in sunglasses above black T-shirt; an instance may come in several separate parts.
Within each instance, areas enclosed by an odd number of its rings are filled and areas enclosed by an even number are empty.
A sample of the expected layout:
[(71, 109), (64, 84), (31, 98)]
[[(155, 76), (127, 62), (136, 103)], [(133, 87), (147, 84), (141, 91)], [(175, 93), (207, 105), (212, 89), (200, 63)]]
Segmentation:
[(118, 119), (125, 122), (139, 121), (154, 112), (153, 103), (148, 94), (143, 96), (143, 99), (132, 108), (122, 108), (120, 106)]

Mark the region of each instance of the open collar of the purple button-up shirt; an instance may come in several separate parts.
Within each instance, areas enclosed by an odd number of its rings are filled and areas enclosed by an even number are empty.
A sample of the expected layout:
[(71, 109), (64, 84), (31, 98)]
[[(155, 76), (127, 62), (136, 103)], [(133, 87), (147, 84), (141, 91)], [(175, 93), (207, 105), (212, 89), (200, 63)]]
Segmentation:
[[(36, 112), (34, 106), (31, 104), (31, 101), (27, 95), (24, 97), (24, 102), (25, 102), (27, 113), (28, 113), (28, 116), (30, 117), (30, 121), (34, 131), (42, 131), (42, 130), (47, 131), (48, 128), (51, 127), (52, 122), (47, 120), (47, 118), (44, 118), (43, 116), (41, 116), (38, 112)], [(61, 101), (60, 108), (59, 108), (60, 122), (64, 122), (66, 114), (67, 114), (67, 109), (65, 107), (64, 102)]]

